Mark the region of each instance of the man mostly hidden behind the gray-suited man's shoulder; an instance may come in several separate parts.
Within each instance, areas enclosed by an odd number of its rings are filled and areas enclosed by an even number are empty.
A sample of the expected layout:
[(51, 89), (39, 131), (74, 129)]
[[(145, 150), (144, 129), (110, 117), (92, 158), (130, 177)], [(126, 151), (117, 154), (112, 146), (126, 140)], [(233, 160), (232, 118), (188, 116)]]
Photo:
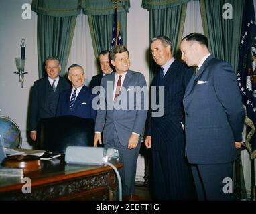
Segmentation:
[(101, 51), (99, 54), (99, 62), (101, 66), (101, 74), (97, 74), (92, 77), (90, 80), (90, 88), (94, 88), (95, 86), (101, 86), (101, 78), (106, 74), (111, 74), (113, 72), (113, 68), (111, 67), (110, 59), (109, 59), (109, 51)]

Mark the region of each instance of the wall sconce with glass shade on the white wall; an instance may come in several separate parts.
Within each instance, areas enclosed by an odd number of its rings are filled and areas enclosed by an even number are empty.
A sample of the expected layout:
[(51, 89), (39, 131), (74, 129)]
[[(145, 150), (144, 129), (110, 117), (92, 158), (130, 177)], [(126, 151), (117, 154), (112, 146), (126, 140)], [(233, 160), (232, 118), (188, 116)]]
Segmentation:
[(24, 74), (28, 74), (25, 72), (25, 39), (21, 39), (21, 58), (15, 58), (17, 72), (15, 74), (19, 74), (19, 82), (21, 82), (21, 88), (24, 86)]

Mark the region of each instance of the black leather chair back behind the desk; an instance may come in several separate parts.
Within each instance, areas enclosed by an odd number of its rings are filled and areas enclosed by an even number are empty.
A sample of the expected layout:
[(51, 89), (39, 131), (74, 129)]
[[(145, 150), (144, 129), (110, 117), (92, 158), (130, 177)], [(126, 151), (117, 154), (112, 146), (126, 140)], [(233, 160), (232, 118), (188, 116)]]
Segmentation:
[(76, 116), (42, 118), (37, 149), (65, 154), (68, 146), (93, 146), (94, 120)]

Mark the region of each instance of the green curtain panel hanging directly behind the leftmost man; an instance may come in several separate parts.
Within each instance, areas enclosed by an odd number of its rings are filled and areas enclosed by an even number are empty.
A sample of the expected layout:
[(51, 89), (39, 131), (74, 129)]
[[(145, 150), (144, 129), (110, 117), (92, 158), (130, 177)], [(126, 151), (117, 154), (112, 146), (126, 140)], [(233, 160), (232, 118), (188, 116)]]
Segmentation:
[(38, 14), (38, 73), (40, 78), (45, 74), (44, 60), (48, 56), (60, 58), (61, 76), (64, 75), (75, 24), (76, 15), (52, 17)]

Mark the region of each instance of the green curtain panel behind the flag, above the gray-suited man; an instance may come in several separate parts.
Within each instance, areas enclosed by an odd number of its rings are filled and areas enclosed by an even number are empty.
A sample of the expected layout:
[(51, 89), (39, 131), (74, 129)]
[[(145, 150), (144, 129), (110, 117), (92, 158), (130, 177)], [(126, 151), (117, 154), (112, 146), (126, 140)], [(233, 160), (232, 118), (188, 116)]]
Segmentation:
[[(127, 45), (127, 13), (123, 11), (118, 13), (118, 20), (121, 29), (123, 45)], [(110, 49), (112, 30), (114, 25), (113, 15), (88, 15), (90, 34), (92, 35), (92, 44), (94, 54), (98, 58), (103, 50)]]

